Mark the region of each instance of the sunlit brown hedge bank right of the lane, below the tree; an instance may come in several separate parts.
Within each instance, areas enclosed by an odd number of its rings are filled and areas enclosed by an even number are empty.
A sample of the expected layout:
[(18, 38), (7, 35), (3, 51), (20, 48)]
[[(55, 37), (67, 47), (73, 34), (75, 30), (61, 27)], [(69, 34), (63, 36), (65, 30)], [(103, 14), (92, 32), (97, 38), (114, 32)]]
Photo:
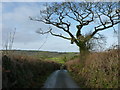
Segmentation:
[(118, 50), (91, 53), (82, 68), (78, 58), (66, 63), (81, 88), (118, 88)]

